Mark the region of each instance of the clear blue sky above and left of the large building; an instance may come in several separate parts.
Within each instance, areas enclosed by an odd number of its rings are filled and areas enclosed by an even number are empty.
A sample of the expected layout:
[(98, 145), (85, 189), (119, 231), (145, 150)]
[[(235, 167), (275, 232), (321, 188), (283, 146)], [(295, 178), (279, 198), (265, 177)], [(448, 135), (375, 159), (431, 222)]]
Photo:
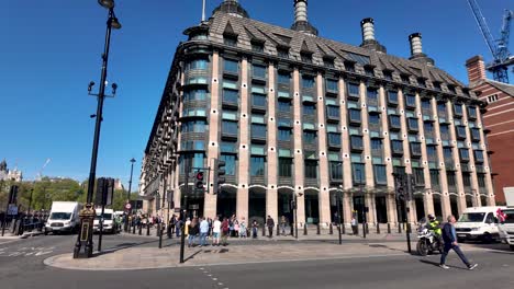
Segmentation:
[[(208, 0), (208, 16), (221, 0)], [(293, 0), (241, 0), (253, 19), (289, 27)], [(97, 176), (126, 184), (131, 158), (141, 159), (177, 44), (200, 22), (201, 0), (118, 0), (123, 24), (112, 35), (108, 80), (119, 84), (104, 105)], [(377, 38), (389, 54), (409, 57), (407, 35), (423, 34), (424, 51), (436, 66), (467, 83), (465, 61), (491, 59), (466, 0), (311, 0), (309, 20), (322, 37), (361, 42), (359, 22), (376, 20)], [(512, 0), (479, 0), (499, 36)], [(44, 175), (83, 180), (89, 175), (97, 101), (87, 95), (99, 82), (107, 11), (97, 0), (24, 0), (0, 3), (0, 159), (26, 180), (47, 158)], [(513, 39), (514, 42), (514, 39)], [(511, 51), (513, 51), (511, 45)], [(514, 51), (513, 51), (514, 53)], [(97, 88), (98, 89), (98, 85)]]

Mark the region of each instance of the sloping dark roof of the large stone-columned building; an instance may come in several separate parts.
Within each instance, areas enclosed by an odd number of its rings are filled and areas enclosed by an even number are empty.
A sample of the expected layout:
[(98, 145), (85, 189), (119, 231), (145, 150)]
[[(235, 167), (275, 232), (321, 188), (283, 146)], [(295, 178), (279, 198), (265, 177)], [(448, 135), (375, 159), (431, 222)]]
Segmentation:
[[(252, 49), (250, 42), (259, 38), (266, 42), (265, 51), (268, 54), (277, 54), (277, 46), (286, 46), (290, 48), (291, 57), (297, 60), (301, 59), (301, 53), (308, 50), (312, 53), (313, 63), (323, 65), (323, 58), (335, 58), (336, 68), (340, 70), (344, 70), (343, 63), (345, 61), (353, 61), (361, 67), (375, 67), (376, 74), (379, 78), (382, 76), (381, 71), (390, 70), (399, 74), (413, 76), (416, 79), (426, 79), (427, 82), (466, 88), (463, 83), (446, 71), (427, 63), (227, 14), (223, 11), (215, 11), (209, 21), (209, 26), (210, 39), (214, 43), (223, 44), (223, 35), (228, 26), (238, 35), (237, 39), (241, 48)], [(446, 90), (444, 89), (444, 91)]]

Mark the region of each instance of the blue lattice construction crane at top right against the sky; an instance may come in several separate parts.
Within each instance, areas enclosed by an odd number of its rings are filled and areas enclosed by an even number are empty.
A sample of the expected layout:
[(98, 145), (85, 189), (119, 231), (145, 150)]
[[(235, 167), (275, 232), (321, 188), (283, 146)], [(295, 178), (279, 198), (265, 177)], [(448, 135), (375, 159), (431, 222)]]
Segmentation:
[(471, 11), (473, 12), (480, 31), (485, 38), (489, 50), (491, 50), (494, 58), (492, 63), (489, 63), (485, 68), (493, 73), (495, 81), (509, 83), (509, 67), (514, 65), (514, 56), (511, 56), (511, 53), (509, 51), (509, 37), (511, 34), (511, 22), (514, 18), (514, 12), (512, 10), (505, 10), (501, 37), (495, 41), (489, 30), (488, 23), (485, 23), (485, 18), (483, 16), (477, 1), (468, 0), (468, 3), (471, 7)]

